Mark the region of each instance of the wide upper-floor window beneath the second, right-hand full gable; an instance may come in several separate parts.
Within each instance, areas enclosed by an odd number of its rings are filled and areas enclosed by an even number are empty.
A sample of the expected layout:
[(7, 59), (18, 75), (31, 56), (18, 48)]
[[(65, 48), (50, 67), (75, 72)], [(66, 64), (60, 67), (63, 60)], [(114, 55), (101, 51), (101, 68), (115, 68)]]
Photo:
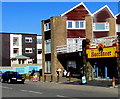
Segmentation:
[(109, 31), (109, 23), (94, 23), (93, 30)]

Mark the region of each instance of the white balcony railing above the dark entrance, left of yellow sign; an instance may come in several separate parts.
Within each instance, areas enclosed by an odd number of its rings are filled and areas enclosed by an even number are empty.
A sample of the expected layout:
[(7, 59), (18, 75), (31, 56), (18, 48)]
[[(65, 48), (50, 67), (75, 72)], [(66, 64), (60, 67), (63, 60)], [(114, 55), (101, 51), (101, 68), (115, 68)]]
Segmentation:
[(81, 44), (62, 45), (62, 46), (57, 46), (56, 50), (57, 53), (77, 52), (77, 51), (82, 51), (82, 45)]

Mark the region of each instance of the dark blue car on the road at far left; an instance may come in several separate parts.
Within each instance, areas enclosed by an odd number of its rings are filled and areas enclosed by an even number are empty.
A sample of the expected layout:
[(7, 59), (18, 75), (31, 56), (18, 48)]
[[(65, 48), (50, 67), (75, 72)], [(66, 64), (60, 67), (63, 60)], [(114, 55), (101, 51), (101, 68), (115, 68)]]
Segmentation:
[(20, 75), (18, 72), (14, 71), (6, 71), (2, 74), (1, 82), (8, 82), (8, 83), (23, 83), (24, 84), (24, 77)]

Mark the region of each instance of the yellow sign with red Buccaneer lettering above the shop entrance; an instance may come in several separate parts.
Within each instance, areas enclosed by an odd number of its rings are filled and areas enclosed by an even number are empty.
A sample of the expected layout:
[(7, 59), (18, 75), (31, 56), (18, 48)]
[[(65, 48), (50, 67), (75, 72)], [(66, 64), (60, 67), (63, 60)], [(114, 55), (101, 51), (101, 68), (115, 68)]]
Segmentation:
[(96, 49), (87, 49), (86, 54), (88, 58), (103, 58), (103, 57), (117, 57), (116, 55), (116, 47), (106, 47), (103, 48), (103, 51), (99, 51), (98, 48)]

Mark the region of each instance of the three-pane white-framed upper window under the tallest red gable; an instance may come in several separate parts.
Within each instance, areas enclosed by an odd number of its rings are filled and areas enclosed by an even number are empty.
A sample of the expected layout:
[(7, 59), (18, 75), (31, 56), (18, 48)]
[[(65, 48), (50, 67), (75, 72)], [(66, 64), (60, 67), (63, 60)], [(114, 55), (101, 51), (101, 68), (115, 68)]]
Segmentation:
[(67, 21), (68, 29), (85, 29), (85, 21)]

